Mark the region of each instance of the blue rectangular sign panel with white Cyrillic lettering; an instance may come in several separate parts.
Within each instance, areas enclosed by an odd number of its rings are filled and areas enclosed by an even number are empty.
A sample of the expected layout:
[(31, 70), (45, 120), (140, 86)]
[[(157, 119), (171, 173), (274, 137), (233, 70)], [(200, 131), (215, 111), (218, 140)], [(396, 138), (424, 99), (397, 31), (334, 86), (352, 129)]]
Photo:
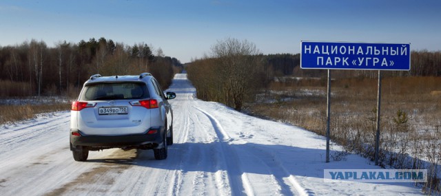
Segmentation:
[(302, 41), (302, 69), (410, 70), (410, 43)]

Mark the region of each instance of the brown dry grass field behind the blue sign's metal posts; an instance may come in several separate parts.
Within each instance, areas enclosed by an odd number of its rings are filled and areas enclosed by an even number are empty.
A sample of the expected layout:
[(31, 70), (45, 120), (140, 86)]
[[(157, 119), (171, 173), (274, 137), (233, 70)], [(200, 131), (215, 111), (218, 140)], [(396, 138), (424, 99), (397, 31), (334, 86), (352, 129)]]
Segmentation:
[[(377, 82), (376, 78), (345, 78), (333, 80), (331, 85), (331, 140), (371, 160)], [(441, 191), (440, 83), (439, 77), (384, 78), (380, 129), (380, 164), (429, 169), (429, 182), (423, 189), (437, 193)], [(320, 80), (273, 83), (257, 103), (247, 107), (258, 116), (325, 135), (325, 85)], [(322, 93), (305, 93), (308, 91)], [(398, 111), (406, 113), (406, 122), (398, 122)]]

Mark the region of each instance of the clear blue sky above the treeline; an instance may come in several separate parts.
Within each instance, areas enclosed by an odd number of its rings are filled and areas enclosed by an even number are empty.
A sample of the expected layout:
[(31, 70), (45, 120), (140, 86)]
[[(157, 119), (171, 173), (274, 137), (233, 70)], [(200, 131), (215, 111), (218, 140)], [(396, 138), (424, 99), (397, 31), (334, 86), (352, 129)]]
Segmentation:
[(76, 0), (0, 1), (0, 45), (53, 46), (94, 37), (147, 43), (187, 63), (217, 40), (247, 39), (263, 54), (299, 53), (300, 41), (411, 43), (441, 50), (441, 1)]

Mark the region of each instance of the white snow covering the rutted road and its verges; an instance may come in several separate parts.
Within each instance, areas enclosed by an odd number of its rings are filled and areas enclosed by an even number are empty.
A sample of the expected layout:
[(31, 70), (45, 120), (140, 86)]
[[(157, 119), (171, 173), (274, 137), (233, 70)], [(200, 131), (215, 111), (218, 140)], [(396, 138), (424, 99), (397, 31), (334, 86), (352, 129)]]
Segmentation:
[(422, 195), (407, 183), (325, 183), (324, 169), (379, 167), (351, 154), (325, 163), (324, 137), (198, 100), (186, 74), (168, 91), (177, 98), (167, 160), (110, 149), (75, 162), (68, 111), (1, 125), (1, 195)]

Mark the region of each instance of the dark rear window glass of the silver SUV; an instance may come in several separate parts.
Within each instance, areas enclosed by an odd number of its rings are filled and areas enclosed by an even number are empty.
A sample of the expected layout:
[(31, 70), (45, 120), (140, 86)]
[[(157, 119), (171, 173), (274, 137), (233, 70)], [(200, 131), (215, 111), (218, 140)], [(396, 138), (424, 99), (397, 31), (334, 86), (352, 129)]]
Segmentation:
[(144, 83), (97, 83), (84, 87), (81, 100), (130, 100), (150, 98)]

